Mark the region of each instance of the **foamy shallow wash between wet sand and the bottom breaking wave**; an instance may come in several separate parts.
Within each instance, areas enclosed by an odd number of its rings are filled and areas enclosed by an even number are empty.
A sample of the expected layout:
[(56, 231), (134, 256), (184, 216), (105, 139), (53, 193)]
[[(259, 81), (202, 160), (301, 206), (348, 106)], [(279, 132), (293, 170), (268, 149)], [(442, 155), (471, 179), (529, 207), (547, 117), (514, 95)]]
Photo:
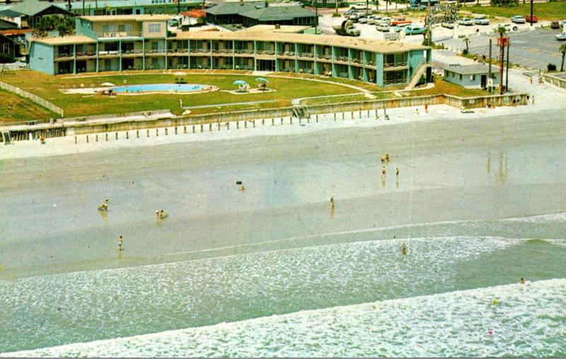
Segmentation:
[(456, 278), (461, 263), (524, 243), (364, 236), (352, 243), (0, 281), (0, 312), (11, 313), (0, 317), (0, 351), (467, 289), (473, 284)]

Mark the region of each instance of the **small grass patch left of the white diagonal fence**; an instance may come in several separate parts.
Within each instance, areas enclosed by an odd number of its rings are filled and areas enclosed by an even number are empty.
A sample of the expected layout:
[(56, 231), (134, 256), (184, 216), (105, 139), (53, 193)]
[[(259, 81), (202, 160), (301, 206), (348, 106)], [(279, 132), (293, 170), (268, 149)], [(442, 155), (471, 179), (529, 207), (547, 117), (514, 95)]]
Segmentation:
[[(3, 78), (4, 79), (4, 78)], [(57, 118), (56, 113), (14, 93), (0, 91), (0, 122)]]

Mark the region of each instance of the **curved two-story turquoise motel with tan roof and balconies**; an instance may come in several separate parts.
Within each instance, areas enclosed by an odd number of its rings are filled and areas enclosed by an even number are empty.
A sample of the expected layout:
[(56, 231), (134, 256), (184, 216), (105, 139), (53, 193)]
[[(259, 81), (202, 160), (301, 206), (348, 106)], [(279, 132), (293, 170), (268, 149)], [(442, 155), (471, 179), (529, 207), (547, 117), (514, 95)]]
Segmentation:
[[(76, 35), (35, 38), (30, 69), (76, 74), (145, 69), (296, 72), (405, 84), (432, 49), (403, 42), (293, 33), (297, 26), (168, 33), (166, 15), (81, 16)], [(291, 31), (291, 32), (289, 32)], [(424, 66), (423, 66), (424, 65)], [(430, 78), (429, 71), (420, 71)]]

